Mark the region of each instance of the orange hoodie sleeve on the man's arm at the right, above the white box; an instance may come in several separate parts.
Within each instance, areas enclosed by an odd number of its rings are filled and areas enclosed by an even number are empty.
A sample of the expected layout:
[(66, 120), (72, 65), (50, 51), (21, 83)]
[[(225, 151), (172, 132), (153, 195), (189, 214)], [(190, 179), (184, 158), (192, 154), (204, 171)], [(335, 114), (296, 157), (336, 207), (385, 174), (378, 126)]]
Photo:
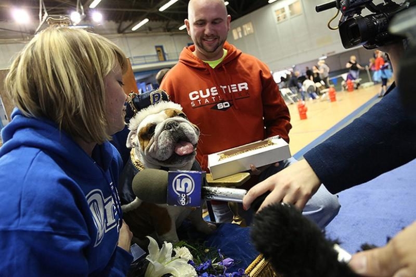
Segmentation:
[(266, 137), (279, 135), (282, 139), (289, 142), (289, 130), (292, 128), (289, 109), (266, 65), (264, 65), (260, 74), (263, 85), (263, 117)]

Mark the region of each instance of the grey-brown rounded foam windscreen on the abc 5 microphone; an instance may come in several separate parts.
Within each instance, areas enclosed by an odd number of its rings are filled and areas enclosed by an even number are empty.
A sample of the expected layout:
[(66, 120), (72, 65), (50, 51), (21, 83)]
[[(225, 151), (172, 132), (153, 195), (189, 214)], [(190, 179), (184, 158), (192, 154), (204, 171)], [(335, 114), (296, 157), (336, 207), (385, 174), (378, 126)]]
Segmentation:
[(144, 202), (166, 204), (167, 171), (145, 168), (137, 173), (132, 182), (133, 193)]

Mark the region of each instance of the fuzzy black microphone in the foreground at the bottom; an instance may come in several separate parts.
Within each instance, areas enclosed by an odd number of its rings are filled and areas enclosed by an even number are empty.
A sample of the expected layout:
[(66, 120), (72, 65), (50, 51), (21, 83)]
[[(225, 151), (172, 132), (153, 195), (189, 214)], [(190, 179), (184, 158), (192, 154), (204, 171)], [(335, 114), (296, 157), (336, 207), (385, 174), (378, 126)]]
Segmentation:
[(351, 255), (301, 211), (288, 204), (266, 206), (254, 216), (250, 236), (276, 273), (303, 277), (358, 277)]

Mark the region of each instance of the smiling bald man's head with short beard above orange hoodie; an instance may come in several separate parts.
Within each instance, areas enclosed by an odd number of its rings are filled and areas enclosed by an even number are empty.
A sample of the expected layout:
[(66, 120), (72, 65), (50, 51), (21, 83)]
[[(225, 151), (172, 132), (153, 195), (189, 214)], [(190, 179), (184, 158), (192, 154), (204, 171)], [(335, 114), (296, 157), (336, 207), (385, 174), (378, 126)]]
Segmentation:
[(195, 43), (196, 56), (202, 60), (221, 58), (231, 22), (224, 4), (216, 0), (194, 0), (190, 5), (185, 24)]

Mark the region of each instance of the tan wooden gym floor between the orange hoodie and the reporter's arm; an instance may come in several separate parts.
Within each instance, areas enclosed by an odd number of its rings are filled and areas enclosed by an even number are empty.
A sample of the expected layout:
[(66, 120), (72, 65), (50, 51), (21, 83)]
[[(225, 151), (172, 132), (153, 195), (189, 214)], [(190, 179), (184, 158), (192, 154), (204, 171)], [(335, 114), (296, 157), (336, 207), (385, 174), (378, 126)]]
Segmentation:
[[(329, 102), (328, 98), (306, 101), (308, 118), (304, 120), (300, 119), (298, 105), (289, 104), (292, 124), (289, 132), (291, 154), (300, 159), (306, 148), (312, 148), (325, 139), (325, 136), (322, 136), (324, 133), (329, 136), (328, 133), (336, 132), (366, 112), (380, 100), (377, 98), (380, 89), (381, 84), (375, 84), (351, 92), (338, 91), (336, 102)], [(328, 130), (330, 132), (327, 132)]]

